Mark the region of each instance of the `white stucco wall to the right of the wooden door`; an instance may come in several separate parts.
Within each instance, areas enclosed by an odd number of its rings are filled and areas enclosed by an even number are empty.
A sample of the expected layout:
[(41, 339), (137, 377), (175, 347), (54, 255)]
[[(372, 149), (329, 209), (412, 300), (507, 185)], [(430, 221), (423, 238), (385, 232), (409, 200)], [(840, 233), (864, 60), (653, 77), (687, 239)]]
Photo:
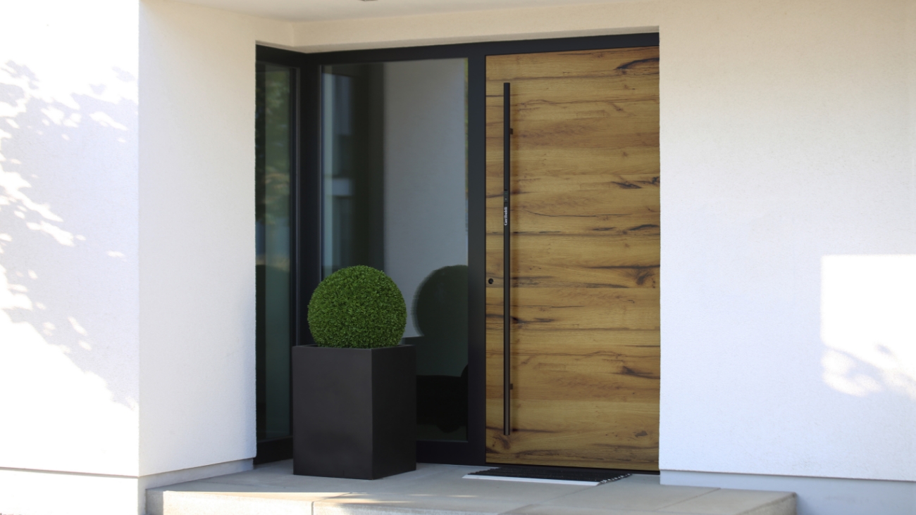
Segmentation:
[(666, 6), (662, 468), (916, 480), (912, 5)]

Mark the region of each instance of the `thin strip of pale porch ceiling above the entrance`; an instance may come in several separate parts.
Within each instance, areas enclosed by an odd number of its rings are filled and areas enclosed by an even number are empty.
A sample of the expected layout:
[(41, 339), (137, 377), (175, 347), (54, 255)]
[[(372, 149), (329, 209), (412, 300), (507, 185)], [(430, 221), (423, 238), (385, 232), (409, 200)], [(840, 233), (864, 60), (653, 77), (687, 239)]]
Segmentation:
[(183, 0), (288, 21), (410, 16), (548, 5), (616, 4), (633, 0)]

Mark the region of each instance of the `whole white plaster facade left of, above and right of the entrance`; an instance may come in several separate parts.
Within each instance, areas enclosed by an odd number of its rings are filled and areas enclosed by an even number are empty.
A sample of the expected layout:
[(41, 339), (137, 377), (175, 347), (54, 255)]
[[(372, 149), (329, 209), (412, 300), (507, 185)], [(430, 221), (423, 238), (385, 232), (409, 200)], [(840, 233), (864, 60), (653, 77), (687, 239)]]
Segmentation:
[(232, 1), (0, 0), (0, 512), (137, 513), (251, 466), (256, 43), (646, 31), (662, 481), (916, 511), (916, 0)]

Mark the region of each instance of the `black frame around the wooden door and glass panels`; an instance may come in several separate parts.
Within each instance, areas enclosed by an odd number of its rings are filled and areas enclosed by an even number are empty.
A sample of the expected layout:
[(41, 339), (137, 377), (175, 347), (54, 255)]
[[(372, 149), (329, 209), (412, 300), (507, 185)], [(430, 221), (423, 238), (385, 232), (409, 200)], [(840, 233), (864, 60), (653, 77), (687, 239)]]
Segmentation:
[[(300, 53), (258, 46), (257, 60), (298, 70), (296, 117), (296, 167), (292, 181), (293, 218), (296, 230), (290, 248), (292, 274), (291, 345), (311, 343), (305, 306), (321, 282), (321, 69), (324, 65), (420, 59), (467, 59), (468, 70), (468, 439), (466, 442), (420, 441), (421, 463), (485, 465), (485, 123), (486, 56), (594, 50), (601, 48), (655, 47), (658, 33), (592, 36), (584, 38), (527, 39), (428, 47), (376, 48), (323, 53)], [(315, 220), (306, 223), (305, 220)], [(289, 448), (289, 456), (287, 455)], [(258, 442), (256, 462), (291, 457), (292, 446), (276, 441)]]

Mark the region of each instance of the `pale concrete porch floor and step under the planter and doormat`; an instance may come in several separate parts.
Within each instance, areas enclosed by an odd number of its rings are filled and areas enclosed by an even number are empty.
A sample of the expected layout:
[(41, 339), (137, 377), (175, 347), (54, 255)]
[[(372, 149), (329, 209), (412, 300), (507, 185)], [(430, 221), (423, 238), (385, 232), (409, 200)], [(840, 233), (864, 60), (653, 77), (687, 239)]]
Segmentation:
[(375, 481), (293, 476), (292, 461), (147, 490), (148, 515), (795, 515), (795, 494), (669, 487), (634, 475), (597, 487), (464, 479), (420, 464)]

